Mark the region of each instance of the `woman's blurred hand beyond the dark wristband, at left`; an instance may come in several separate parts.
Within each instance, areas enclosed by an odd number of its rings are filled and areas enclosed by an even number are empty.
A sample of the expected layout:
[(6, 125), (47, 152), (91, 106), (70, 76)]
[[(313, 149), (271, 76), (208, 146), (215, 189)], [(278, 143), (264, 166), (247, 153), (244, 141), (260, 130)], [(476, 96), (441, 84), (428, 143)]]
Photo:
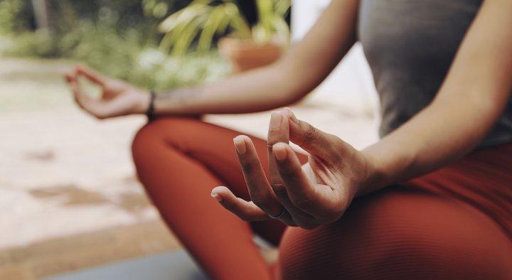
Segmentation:
[[(78, 77), (83, 76), (102, 88), (102, 97), (94, 99), (83, 92)], [(100, 75), (88, 68), (77, 66), (65, 74), (77, 104), (98, 119), (127, 114), (143, 114), (149, 106), (149, 93), (122, 80)]]

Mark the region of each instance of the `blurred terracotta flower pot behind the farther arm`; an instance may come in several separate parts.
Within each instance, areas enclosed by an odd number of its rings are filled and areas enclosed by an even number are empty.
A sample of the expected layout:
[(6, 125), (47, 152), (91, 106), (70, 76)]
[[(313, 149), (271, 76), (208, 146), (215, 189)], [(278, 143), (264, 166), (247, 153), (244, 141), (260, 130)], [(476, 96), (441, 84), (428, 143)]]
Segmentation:
[(233, 72), (242, 72), (273, 63), (282, 53), (282, 46), (276, 43), (258, 45), (250, 40), (221, 38), (218, 42), (220, 54), (228, 59)]

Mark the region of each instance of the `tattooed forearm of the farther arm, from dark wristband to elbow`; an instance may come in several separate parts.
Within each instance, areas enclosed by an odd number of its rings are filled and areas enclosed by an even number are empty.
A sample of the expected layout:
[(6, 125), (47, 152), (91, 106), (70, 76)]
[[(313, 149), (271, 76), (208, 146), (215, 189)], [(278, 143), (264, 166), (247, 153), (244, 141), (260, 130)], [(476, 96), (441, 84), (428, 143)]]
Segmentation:
[(158, 92), (156, 114), (235, 114), (282, 107), (304, 96), (279, 63), (198, 87)]

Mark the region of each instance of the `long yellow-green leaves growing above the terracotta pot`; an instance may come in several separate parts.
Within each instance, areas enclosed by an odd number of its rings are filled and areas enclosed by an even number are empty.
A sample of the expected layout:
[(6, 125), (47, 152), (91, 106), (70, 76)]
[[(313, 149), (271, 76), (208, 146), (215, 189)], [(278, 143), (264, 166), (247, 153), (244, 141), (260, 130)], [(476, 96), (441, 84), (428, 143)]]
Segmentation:
[[(289, 27), (285, 17), (290, 0), (255, 0), (258, 21), (250, 26), (233, 0), (194, 0), (186, 8), (164, 19), (159, 30), (166, 35), (160, 49), (173, 55), (183, 55), (198, 37), (197, 50), (210, 50), (214, 36), (225, 35), (265, 44), (275, 40), (287, 42)], [(229, 30), (228, 30), (229, 28)]]

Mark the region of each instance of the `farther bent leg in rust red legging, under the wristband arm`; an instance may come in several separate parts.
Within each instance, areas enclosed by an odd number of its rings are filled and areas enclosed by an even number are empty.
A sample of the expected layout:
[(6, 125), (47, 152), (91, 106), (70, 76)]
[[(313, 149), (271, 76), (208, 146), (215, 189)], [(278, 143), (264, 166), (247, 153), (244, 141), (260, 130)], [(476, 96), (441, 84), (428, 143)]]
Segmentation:
[[(198, 119), (160, 118), (140, 129), (132, 153), (149, 197), (208, 275), (272, 279), (252, 237), (256, 232), (277, 245), (285, 226), (274, 220), (244, 222), (210, 197), (215, 186), (225, 185), (250, 200), (233, 147), (238, 135)], [(268, 174), (267, 141), (251, 138)]]

